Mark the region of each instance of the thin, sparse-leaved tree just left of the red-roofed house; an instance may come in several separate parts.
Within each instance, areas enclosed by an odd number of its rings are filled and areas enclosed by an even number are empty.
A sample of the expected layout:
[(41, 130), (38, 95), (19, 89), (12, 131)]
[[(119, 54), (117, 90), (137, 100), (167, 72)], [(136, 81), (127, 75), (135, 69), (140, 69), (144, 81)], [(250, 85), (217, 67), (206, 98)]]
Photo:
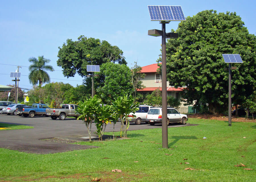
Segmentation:
[(133, 84), (133, 90), (134, 90), (133, 97), (135, 98), (135, 100), (137, 100), (136, 98), (137, 89), (145, 88), (145, 86), (142, 84), (141, 78), (144, 78), (146, 75), (145, 73), (142, 73), (141, 70), (142, 70), (142, 67), (137, 65), (137, 61), (134, 62), (134, 67), (131, 68), (131, 73), (132, 73), (131, 82)]

